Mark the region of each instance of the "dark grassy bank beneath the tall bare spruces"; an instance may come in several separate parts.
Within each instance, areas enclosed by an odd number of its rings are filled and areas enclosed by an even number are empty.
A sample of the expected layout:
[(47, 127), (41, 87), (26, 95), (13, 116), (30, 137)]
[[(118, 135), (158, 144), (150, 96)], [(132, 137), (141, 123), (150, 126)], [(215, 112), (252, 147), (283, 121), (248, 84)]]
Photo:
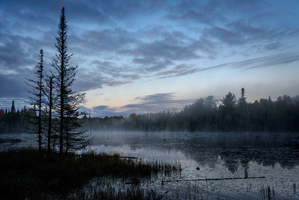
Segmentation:
[[(45, 149), (44, 152), (46, 152)], [(40, 154), (38, 149), (31, 147), (1, 151), (0, 163), (0, 199), (53, 199), (54, 194), (60, 194), (69, 199), (78, 199), (78, 195), (81, 195), (82, 199), (91, 199), (86, 192), (77, 192), (72, 196), (69, 195), (69, 191), (76, 186), (88, 183), (93, 177), (150, 178), (159, 173), (180, 173), (182, 170), (179, 162), (145, 162), (141, 158), (122, 157), (117, 153), (97, 154), (94, 151), (81, 155), (61, 156), (58, 152)], [(103, 183), (107, 187), (101, 190), (98, 186)], [(109, 182), (105, 181), (98, 182), (96, 185), (87, 184), (86, 188), (97, 188), (98, 195), (102, 194), (106, 197), (110, 195), (109, 199), (140, 200), (148, 199), (149, 195), (152, 199), (156, 198), (153, 190), (145, 191), (142, 188), (118, 193), (117, 190), (112, 191), (113, 188), (109, 187)], [(107, 193), (109, 190), (111, 193)], [(133, 198), (133, 194), (138, 198)], [(127, 198), (124, 195), (131, 195), (131, 197)], [(144, 197), (141, 198), (141, 196)]]

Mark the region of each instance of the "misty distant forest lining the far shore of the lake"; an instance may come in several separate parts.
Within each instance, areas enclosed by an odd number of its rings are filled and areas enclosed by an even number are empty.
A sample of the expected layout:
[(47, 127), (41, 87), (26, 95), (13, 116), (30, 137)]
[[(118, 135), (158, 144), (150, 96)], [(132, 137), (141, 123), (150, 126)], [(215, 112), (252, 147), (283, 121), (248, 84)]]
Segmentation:
[[(0, 109), (0, 133), (23, 132), (32, 125), (34, 109)], [(46, 112), (43, 113), (46, 118)], [(182, 132), (299, 132), (299, 95), (279, 96), (277, 100), (247, 102), (244, 88), (239, 99), (229, 92), (218, 100), (214, 96), (197, 99), (182, 110), (136, 114), (128, 117), (78, 118), (82, 129), (92, 131), (182, 131)]]

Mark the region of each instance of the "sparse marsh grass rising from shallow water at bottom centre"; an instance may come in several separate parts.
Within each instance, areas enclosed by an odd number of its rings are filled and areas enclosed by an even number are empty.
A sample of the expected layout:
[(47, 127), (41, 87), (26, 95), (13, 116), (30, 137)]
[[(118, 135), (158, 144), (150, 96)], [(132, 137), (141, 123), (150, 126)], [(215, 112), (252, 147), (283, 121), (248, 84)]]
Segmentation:
[[(208, 200), (218, 199), (217, 196), (205, 194), (200, 189), (199, 184), (191, 185), (186, 182), (186, 193), (177, 190), (176, 193), (169, 193), (165, 190), (159, 191), (157, 188), (149, 187), (144, 182), (132, 183), (127, 185), (125, 181), (109, 180), (109, 178), (101, 178), (91, 180), (89, 183), (82, 186), (77, 191), (70, 194), (66, 200), (96, 200), (96, 199), (109, 199), (109, 200)], [(161, 193), (161, 194), (160, 194)], [(159, 195), (160, 194), (160, 195)], [(185, 196), (182, 196), (185, 195)]]

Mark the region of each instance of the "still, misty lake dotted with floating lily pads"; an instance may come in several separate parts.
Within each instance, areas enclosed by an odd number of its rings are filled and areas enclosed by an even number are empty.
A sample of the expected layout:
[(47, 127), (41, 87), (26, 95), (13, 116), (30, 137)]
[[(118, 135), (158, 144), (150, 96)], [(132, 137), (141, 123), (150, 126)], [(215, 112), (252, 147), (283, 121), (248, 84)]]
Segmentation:
[[(199, 195), (199, 199), (268, 199), (267, 187), (272, 199), (299, 199), (299, 150), (294, 148), (298, 135), (94, 132), (96, 142), (89, 148), (145, 160), (179, 160), (181, 174), (150, 180), (150, 187), (159, 194), (168, 191), (164, 199), (185, 199), (189, 194)], [(224, 179), (198, 180), (215, 178)], [(170, 182), (162, 185), (162, 179)]]

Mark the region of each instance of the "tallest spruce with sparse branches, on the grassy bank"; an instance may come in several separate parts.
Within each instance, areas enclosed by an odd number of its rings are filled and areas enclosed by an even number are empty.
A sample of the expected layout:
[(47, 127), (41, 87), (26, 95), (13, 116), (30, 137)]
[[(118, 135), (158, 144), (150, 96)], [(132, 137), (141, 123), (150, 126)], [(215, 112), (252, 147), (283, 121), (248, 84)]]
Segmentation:
[(58, 37), (55, 37), (57, 43), (55, 47), (57, 53), (53, 58), (52, 66), (54, 71), (52, 75), (56, 78), (53, 90), (55, 98), (53, 100), (53, 108), (56, 109), (57, 128), (59, 132), (59, 154), (68, 153), (70, 150), (85, 148), (91, 144), (91, 138), (85, 134), (86, 131), (79, 130), (81, 127), (79, 116), (84, 112), (79, 112), (80, 104), (84, 100), (85, 93), (77, 93), (72, 90), (75, 75), (78, 66), (70, 64), (71, 56), (68, 53), (67, 46), (67, 21), (65, 18), (64, 7), (61, 10), (60, 22), (58, 25)]

